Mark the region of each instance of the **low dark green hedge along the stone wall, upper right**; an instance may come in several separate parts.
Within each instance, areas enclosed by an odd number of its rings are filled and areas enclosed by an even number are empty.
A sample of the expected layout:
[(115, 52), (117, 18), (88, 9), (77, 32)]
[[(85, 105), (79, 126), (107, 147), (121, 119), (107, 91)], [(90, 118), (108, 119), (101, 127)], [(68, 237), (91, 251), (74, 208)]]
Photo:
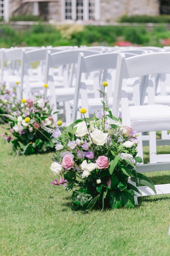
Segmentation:
[(119, 22), (129, 22), (129, 23), (170, 23), (170, 15), (123, 15)]

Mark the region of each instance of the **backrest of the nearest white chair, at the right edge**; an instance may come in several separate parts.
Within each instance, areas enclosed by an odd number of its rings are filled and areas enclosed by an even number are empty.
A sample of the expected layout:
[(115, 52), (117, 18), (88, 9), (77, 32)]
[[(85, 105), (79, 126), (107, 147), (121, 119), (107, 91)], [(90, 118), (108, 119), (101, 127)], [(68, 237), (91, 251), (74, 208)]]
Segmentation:
[[(133, 77), (144, 77), (150, 74), (170, 73), (170, 52), (154, 52), (125, 58), (120, 53), (116, 67), (115, 90), (113, 94), (112, 113), (118, 116), (122, 90), (122, 80)], [(147, 86), (147, 84), (141, 84)], [(145, 91), (145, 90), (144, 90)]]

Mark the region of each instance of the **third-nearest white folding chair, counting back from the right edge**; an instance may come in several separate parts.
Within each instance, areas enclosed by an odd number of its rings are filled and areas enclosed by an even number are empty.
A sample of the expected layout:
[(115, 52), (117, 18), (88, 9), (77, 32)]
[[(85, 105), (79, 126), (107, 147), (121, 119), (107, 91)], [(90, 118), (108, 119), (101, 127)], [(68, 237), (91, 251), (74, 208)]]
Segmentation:
[[(72, 65), (77, 64), (79, 53), (83, 52), (85, 56), (98, 54), (96, 51), (87, 49), (72, 49), (64, 52), (58, 52), (51, 54), (50, 51), (47, 52), (46, 58), (46, 68), (45, 68), (45, 83), (49, 86), (49, 94), (51, 96), (51, 102), (54, 105), (54, 112), (57, 111), (57, 103), (64, 102), (65, 105), (65, 119), (66, 122), (71, 123), (71, 112), (69, 100), (74, 98), (75, 87), (73, 86), (73, 69)], [(53, 73), (51, 74), (51, 68), (64, 66), (63, 78), (64, 87), (55, 88)], [(71, 69), (70, 69), (71, 67)], [(77, 67), (78, 70), (78, 67)], [(90, 94), (94, 94), (94, 90), (88, 91)], [(54, 119), (57, 119), (57, 114), (54, 115)]]

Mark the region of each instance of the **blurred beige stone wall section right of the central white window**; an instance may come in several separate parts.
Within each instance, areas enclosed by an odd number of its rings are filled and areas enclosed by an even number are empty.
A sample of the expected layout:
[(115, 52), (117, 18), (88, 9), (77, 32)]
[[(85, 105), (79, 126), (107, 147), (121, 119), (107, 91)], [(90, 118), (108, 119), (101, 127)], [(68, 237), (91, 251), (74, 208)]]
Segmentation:
[(100, 20), (116, 21), (122, 15), (159, 15), (159, 0), (100, 0)]

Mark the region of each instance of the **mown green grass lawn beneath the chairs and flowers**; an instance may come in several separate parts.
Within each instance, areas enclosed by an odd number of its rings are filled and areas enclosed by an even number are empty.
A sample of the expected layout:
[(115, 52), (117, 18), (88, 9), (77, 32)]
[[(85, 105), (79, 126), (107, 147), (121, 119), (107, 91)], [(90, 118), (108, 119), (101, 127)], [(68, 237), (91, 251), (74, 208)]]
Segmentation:
[[(170, 255), (170, 195), (141, 198), (134, 209), (73, 211), (70, 194), (50, 183), (51, 157), (12, 155), (0, 138), (0, 255)], [(170, 183), (170, 171), (148, 177)]]

